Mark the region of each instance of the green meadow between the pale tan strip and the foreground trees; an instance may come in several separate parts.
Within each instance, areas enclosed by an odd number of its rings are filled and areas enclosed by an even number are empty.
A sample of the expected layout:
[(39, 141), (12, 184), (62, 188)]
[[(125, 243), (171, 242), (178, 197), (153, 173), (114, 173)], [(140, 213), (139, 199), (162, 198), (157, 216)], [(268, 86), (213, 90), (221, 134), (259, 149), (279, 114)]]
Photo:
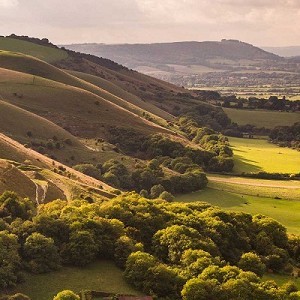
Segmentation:
[(176, 201), (195, 202), (204, 201), (219, 206), (228, 211), (245, 212), (251, 215), (267, 215), (287, 227), (290, 233), (300, 234), (300, 201), (274, 199), (262, 196), (242, 194), (242, 187), (236, 187), (240, 193), (217, 189), (214, 184), (203, 191), (187, 195), (179, 195)]

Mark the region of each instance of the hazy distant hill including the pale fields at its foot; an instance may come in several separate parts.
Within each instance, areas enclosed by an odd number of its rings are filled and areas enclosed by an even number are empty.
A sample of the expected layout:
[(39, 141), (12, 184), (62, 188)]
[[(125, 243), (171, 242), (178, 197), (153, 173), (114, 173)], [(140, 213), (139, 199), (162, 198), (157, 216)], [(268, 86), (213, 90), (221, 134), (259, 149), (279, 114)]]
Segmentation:
[[(192, 86), (213, 72), (272, 71), (284, 59), (237, 40), (156, 44), (72, 44), (65, 48), (114, 60), (178, 86)], [(210, 75), (208, 75), (210, 77)], [(209, 82), (211, 80), (209, 79)]]

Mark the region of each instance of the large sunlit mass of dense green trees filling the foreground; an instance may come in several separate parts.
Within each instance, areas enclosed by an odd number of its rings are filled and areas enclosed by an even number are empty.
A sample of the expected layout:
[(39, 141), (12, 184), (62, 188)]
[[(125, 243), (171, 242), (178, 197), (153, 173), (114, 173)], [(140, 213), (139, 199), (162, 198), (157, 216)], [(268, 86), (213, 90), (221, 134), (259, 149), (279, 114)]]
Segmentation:
[[(4, 204), (7, 199), (14, 202)], [(299, 297), (295, 286), (260, 280), (266, 269), (289, 272), (300, 263), (299, 237), (288, 237), (268, 217), (135, 193), (104, 203), (56, 200), (38, 212), (25, 205), (26, 214), (16, 213), (23, 203), (11, 192), (1, 196), (7, 211), (0, 224), (2, 290), (17, 284), (23, 270), (44, 273), (107, 258), (159, 299)]]

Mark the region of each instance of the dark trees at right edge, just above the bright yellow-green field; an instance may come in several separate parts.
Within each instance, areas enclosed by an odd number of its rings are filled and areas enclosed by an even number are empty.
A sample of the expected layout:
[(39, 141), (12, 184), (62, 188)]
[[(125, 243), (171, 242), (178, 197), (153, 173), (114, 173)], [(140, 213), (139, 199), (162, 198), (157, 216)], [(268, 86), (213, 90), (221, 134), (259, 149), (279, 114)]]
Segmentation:
[(300, 122), (292, 126), (277, 126), (269, 137), (275, 144), (300, 150)]

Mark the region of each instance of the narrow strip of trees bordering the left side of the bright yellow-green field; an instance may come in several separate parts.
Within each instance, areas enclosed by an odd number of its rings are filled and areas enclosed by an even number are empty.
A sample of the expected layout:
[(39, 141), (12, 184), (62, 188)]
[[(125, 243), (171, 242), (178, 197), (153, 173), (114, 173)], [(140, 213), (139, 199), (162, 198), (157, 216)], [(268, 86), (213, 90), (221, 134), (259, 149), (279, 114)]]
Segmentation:
[(233, 168), (233, 152), (229, 147), (228, 139), (208, 127), (199, 127), (199, 124), (190, 116), (179, 118), (178, 124), (190, 140), (213, 154), (204, 165), (208, 171), (231, 172)]

